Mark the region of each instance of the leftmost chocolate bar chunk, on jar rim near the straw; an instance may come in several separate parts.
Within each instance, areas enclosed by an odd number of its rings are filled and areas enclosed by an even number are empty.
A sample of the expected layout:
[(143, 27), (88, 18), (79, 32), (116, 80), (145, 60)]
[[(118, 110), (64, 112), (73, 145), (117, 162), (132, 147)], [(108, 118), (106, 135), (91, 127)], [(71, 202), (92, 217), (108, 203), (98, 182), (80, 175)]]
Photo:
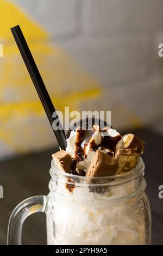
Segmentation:
[(57, 167), (61, 170), (64, 170), (66, 173), (70, 173), (70, 167), (72, 163), (71, 155), (68, 154), (65, 150), (60, 150), (57, 153), (52, 155)]

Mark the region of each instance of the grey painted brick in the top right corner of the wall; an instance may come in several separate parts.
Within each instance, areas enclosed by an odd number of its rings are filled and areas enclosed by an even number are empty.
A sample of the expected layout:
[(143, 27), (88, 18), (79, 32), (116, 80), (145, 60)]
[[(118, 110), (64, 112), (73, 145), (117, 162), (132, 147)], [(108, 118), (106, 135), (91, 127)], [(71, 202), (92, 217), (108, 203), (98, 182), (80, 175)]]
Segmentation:
[(84, 30), (106, 36), (142, 33), (163, 25), (162, 0), (85, 0)]

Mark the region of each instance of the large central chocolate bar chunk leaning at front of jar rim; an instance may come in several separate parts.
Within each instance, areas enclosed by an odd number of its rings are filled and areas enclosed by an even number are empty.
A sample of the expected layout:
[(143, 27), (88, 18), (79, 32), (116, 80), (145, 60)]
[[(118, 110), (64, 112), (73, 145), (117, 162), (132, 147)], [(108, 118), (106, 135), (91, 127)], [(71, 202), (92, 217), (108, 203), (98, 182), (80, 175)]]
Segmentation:
[(114, 175), (117, 172), (118, 163), (109, 155), (97, 150), (92, 162), (86, 171), (87, 177), (103, 177)]

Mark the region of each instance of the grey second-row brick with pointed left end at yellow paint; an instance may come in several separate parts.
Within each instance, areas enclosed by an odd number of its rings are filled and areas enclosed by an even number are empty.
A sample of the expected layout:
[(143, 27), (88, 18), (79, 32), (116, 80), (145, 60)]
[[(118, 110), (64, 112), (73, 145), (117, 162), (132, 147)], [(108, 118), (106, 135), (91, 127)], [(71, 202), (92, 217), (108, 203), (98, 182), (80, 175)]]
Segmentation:
[(108, 87), (112, 82), (148, 75), (150, 43), (146, 35), (60, 41), (71, 56)]

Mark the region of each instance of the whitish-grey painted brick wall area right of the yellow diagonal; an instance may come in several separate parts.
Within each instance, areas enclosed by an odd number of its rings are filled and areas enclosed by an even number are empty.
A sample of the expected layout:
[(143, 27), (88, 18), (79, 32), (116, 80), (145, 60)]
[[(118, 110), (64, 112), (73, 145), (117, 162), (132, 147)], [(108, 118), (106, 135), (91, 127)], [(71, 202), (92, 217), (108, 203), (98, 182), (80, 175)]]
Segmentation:
[(162, 118), (162, 0), (12, 2), (47, 29), (53, 44), (101, 81), (105, 100), (115, 95), (108, 107), (121, 101), (143, 120)]

